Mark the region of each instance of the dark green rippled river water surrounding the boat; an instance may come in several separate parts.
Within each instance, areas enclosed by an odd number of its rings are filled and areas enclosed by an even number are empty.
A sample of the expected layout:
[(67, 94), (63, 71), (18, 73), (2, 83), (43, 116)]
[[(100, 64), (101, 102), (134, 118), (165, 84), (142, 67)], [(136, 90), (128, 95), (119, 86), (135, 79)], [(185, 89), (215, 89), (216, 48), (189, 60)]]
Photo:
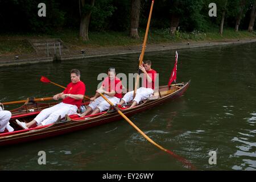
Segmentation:
[[(256, 170), (256, 44), (178, 52), (177, 82), (191, 80), (189, 89), (175, 101), (130, 117), (131, 121), (199, 170)], [(174, 55), (173, 50), (145, 55), (158, 71), (160, 85), (168, 83)], [(59, 93), (57, 86), (40, 82), (40, 76), (65, 86), (73, 68), (80, 69), (86, 94), (92, 95), (99, 73), (109, 67), (134, 73), (137, 61), (134, 54), (0, 68), (0, 101)], [(38, 164), (39, 151), (46, 152), (46, 165)], [(216, 151), (216, 164), (209, 164), (210, 151)], [(0, 161), (4, 170), (187, 170), (125, 120), (2, 147)]]

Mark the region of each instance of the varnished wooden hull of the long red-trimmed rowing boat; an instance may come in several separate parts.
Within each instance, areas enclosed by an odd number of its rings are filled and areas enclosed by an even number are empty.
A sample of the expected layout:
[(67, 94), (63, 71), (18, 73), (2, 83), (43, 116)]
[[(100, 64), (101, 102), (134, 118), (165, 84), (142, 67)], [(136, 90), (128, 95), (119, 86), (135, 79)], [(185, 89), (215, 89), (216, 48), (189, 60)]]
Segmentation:
[[(183, 86), (180, 86), (178, 90), (171, 94), (166, 94), (166, 96), (160, 97), (156, 100), (147, 100), (143, 104), (133, 107), (130, 109), (122, 110), (123, 114), (125, 114), (127, 117), (130, 117), (131, 115), (134, 115), (136, 113), (142, 112), (144, 110), (150, 109), (152, 107), (155, 107), (156, 105), (163, 104), (164, 102), (168, 102), (171, 100), (174, 100), (177, 97), (180, 97), (185, 90), (188, 89), (188, 86), (190, 84), (190, 81), (182, 84)], [(168, 92), (170, 88), (168, 86), (160, 86), (159, 90), (162, 90), (162, 92)], [(10, 120), (11, 124), (14, 126), (16, 125), (15, 119), (20, 119), (22, 121), (31, 121), (35, 118), (35, 115), (40, 112), (40, 110), (47, 108), (49, 106), (55, 105), (56, 103), (51, 104), (32, 104), (28, 106), (22, 106), (18, 109), (11, 110), (13, 113), (13, 116)], [(30, 109), (34, 109), (34, 112), (32, 111), (29, 113)], [(79, 118), (78, 118), (79, 119)], [(67, 119), (67, 121), (61, 121), (56, 122), (53, 125), (49, 126), (43, 126), (39, 127), (39, 129), (29, 129), (29, 130), (19, 130), (14, 131), (12, 133), (5, 133), (0, 134), (0, 146), (6, 146), (10, 144), (17, 144), (22, 142), (29, 142), (32, 140), (38, 140), (48, 137), (55, 137), (57, 135), (62, 135), (65, 133), (71, 133), (73, 131), (77, 130), (84, 130), (88, 129), (90, 127), (103, 125), (105, 123), (117, 121), (119, 119), (122, 119), (121, 115), (117, 113), (117, 111), (112, 110), (108, 113), (98, 115), (97, 117), (92, 117), (89, 119)], [(14, 126), (15, 128), (18, 128), (18, 126)]]

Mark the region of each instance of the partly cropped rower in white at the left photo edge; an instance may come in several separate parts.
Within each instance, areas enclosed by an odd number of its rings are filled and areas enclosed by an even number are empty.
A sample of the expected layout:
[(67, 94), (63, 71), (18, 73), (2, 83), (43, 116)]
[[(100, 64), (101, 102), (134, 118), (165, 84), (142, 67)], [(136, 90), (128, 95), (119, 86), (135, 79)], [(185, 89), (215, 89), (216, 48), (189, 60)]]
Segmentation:
[[(0, 102), (0, 105), (2, 103)], [(0, 133), (7, 129), (9, 132), (14, 131), (13, 127), (10, 126), (9, 120), (11, 119), (11, 112), (8, 110), (3, 110), (0, 106)]]

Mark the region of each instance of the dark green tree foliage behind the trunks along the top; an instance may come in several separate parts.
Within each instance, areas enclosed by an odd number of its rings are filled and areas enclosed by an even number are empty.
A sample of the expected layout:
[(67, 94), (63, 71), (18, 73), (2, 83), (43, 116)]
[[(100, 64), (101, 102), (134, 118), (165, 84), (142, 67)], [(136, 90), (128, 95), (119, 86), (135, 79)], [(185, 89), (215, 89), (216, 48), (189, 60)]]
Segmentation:
[[(240, 28), (246, 30), (250, 20), (253, 0), (228, 0), (224, 27), (234, 28), (237, 16), (242, 11)], [(46, 17), (38, 16), (38, 4), (46, 3)], [(218, 27), (224, 0), (215, 0), (217, 17), (209, 17), (210, 0), (156, 0), (151, 27), (170, 27), (171, 15), (179, 16), (180, 31), (207, 31)], [(68, 0), (0, 0), (0, 32), (51, 32), (72, 28), (79, 30), (80, 11), (77, 1)], [(86, 5), (82, 13), (92, 10), (89, 31), (129, 31), (130, 0), (96, 0), (95, 6)], [(139, 28), (146, 27), (151, 0), (141, 0)], [(255, 27), (255, 24), (254, 24)]]

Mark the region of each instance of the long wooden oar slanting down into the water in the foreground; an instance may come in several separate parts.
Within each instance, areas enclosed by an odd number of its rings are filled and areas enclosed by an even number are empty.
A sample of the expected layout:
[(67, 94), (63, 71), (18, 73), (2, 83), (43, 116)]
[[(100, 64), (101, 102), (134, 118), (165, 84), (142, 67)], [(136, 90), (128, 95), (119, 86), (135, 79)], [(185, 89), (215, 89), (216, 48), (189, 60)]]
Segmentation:
[(123, 114), (123, 113), (121, 112), (121, 110), (119, 110), (118, 107), (114, 106), (114, 104), (113, 104), (111, 101), (109, 101), (108, 98), (106, 98), (106, 97), (104, 96), (104, 94), (100, 93), (100, 95), (101, 95), (102, 98), (105, 99), (105, 101), (107, 101), (111, 106), (113, 106), (113, 107), (115, 108), (115, 110), (117, 110), (117, 112), (118, 112), (127, 122), (129, 122), (129, 124), (130, 124), (131, 126), (133, 126), (133, 127), (135, 128), (135, 130), (137, 130), (140, 134), (142, 134), (142, 136), (143, 136), (144, 138), (146, 138), (146, 139), (148, 140), (148, 142), (154, 144), (156, 147), (160, 148), (160, 150), (163, 150), (163, 151), (167, 152), (168, 154), (174, 156), (174, 158), (176, 158), (177, 160), (179, 160), (180, 162), (182, 162), (182, 163), (185, 164), (186, 166), (189, 166), (190, 169), (192, 169), (192, 170), (195, 170), (195, 169), (196, 169), (195, 166), (193, 166), (190, 162), (188, 162), (188, 160), (182, 158), (181, 156), (175, 154), (174, 152), (172, 152), (172, 151), (170, 151), (170, 150), (167, 150), (166, 148), (163, 148), (163, 147), (160, 146), (159, 144), (155, 143), (152, 139), (150, 139), (149, 137), (147, 137), (147, 135), (144, 134), (143, 131), (141, 131), (141, 129), (139, 129), (129, 118), (127, 118), (126, 115)]

